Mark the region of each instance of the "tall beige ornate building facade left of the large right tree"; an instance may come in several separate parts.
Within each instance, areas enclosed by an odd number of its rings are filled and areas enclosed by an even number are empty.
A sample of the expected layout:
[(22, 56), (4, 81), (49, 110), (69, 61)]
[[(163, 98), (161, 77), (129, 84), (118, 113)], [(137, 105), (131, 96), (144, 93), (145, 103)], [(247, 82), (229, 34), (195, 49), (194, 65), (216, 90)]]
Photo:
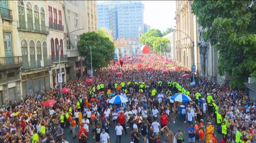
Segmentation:
[[(198, 22), (191, 11), (191, 1), (176, 0), (176, 52), (175, 58), (178, 63), (189, 69), (196, 65), (198, 70), (199, 48), (198, 48)], [(194, 44), (193, 44), (194, 43)]]

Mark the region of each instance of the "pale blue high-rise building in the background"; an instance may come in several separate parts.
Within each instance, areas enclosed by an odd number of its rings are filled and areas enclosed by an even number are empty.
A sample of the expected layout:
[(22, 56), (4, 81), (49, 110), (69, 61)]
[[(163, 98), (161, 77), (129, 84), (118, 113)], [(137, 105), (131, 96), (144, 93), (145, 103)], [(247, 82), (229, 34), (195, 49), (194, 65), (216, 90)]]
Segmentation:
[(117, 38), (138, 38), (143, 25), (144, 5), (140, 0), (115, 0), (97, 4), (98, 27), (112, 30)]

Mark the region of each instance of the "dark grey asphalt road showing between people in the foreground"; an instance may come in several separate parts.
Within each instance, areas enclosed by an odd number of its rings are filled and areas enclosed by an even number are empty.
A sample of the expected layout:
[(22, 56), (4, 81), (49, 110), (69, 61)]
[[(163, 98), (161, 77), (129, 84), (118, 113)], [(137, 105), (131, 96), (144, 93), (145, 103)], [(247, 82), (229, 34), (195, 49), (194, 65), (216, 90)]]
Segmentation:
[[(188, 143), (187, 129), (189, 127), (189, 123), (184, 123), (184, 121), (185, 121), (184, 118), (183, 119), (182, 118), (177, 119), (177, 122), (175, 124), (172, 122), (172, 119), (170, 119), (169, 121), (171, 121), (170, 124), (168, 125), (169, 129), (174, 134), (176, 134), (177, 129), (180, 128), (181, 131), (183, 132), (183, 135), (184, 135), (184, 138), (185, 138), (185, 141), (183, 143)], [(206, 125), (206, 123), (204, 123), (204, 124)], [(87, 143), (96, 143), (96, 140), (93, 139), (92, 126), (90, 126), (89, 129), (90, 129), (89, 139), (87, 140)], [(76, 136), (78, 136), (78, 131), (79, 131), (79, 127), (76, 127)], [(121, 139), (122, 143), (130, 143), (130, 135), (131, 135), (130, 131), (131, 131), (131, 129), (127, 129), (128, 134), (126, 134), (126, 135), (125, 135), (125, 132), (123, 132), (122, 139)], [(70, 129), (65, 129), (64, 132), (65, 132), (64, 137), (66, 137), (66, 139), (69, 143), (79, 143), (78, 137), (76, 137), (75, 139), (72, 139), (73, 135), (72, 135), (72, 133), (70, 133)], [(214, 129), (214, 132), (216, 133), (216, 126), (215, 126), (215, 129)], [(222, 138), (222, 135), (220, 135), (218, 133), (216, 133), (216, 134), (217, 134), (217, 140), (219, 142)], [(109, 136), (110, 136), (110, 142), (111, 143), (116, 143), (116, 131), (113, 129), (113, 126), (111, 126), (110, 129), (109, 129)], [(162, 139), (161, 142), (163, 142), (163, 135), (160, 135), (160, 137)], [(143, 143), (142, 136), (140, 137), (140, 143)]]

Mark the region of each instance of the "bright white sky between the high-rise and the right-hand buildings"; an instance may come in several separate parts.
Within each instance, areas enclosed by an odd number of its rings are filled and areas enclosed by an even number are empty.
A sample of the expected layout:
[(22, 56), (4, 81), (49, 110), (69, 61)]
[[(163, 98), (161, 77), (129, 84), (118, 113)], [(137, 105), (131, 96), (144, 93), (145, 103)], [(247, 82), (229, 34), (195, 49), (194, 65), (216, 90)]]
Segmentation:
[[(105, 0), (97, 0), (102, 3)], [(151, 29), (166, 31), (167, 28), (174, 28), (175, 0), (141, 0), (144, 4), (144, 23), (151, 26)]]

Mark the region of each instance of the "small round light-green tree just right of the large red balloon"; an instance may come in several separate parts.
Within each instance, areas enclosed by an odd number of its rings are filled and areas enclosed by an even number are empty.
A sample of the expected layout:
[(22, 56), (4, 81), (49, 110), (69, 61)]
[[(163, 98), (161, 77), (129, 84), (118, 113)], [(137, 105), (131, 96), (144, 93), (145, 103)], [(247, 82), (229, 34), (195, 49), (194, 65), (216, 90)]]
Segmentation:
[(164, 54), (167, 51), (169, 39), (157, 37), (153, 43), (153, 51), (157, 54)]

